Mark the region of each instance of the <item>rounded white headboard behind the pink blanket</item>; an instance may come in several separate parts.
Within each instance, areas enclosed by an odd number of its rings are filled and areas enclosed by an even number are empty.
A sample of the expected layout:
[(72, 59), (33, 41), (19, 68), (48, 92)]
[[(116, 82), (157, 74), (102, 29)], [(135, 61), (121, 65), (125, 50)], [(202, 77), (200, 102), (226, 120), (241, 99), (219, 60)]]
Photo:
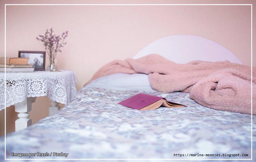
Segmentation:
[(139, 51), (133, 58), (148, 54), (159, 54), (171, 61), (185, 64), (194, 60), (242, 62), (228, 49), (220, 44), (194, 35), (173, 35), (155, 40)]

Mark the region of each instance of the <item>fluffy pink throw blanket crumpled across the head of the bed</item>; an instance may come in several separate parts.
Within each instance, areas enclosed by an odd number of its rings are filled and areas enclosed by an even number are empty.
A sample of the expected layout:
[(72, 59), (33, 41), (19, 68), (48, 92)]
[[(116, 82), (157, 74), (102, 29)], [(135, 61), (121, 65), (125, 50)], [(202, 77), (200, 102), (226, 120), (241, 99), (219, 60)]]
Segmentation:
[[(115, 60), (101, 67), (92, 80), (115, 73), (148, 74), (153, 89), (190, 93), (199, 104), (216, 110), (251, 114), (251, 67), (229, 61), (176, 64), (157, 54)], [(256, 114), (256, 70), (252, 71), (252, 114)]]

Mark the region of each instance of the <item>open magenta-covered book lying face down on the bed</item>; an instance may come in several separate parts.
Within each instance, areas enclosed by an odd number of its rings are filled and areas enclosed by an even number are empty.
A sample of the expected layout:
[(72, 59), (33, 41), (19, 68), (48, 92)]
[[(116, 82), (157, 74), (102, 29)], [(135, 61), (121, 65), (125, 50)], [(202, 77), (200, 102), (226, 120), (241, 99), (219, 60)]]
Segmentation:
[(138, 94), (135, 96), (132, 96), (122, 102), (119, 102), (118, 104), (137, 109), (137, 110), (149, 110), (149, 109), (157, 109), (160, 106), (165, 107), (187, 107), (183, 104), (178, 104), (174, 102), (167, 101), (166, 98), (153, 96), (153, 95), (147, 95), (147, 94)]

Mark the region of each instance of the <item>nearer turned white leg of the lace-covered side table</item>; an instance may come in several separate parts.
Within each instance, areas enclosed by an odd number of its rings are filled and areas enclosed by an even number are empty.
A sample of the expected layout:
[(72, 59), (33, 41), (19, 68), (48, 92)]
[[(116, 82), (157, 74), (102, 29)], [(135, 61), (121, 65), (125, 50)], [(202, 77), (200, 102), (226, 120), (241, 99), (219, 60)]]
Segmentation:
[(28, 119), (29, 114), (32, 109), (32, 103), (36, 101), (36, 97), (27, 97), (26, 100), (15, 104), (15, 112), (18, 113), (18, 118), (15, 121), (15, 131), (20, 131), (32, 124), (32, 120)]

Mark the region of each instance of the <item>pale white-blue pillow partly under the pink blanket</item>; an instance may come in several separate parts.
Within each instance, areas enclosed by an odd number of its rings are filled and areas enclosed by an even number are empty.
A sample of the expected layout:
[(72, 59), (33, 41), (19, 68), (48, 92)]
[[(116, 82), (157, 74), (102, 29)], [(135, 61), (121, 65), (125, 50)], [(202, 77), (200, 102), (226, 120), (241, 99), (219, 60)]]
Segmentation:
[(149, 83), (147, 74), (112, 74), (91, 81), (87, 87), (100, 87), (112, 90), (144, 90), (154, 91)]

